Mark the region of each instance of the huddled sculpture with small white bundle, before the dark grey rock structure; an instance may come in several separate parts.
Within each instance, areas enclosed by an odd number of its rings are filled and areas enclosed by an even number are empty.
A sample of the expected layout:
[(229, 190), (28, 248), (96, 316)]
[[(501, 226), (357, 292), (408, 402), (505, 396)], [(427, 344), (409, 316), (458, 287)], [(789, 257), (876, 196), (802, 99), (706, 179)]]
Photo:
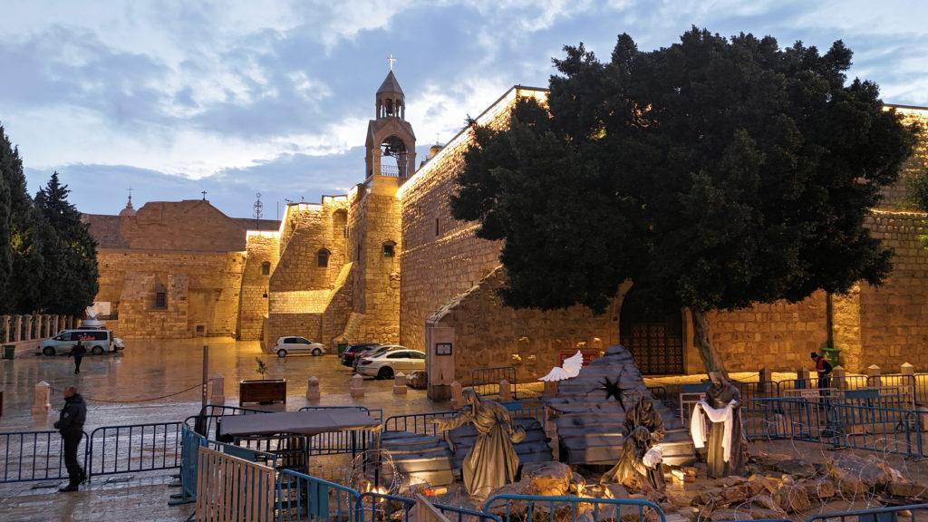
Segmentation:
[(632, 410), (625, 412), (619, 462), (599, 479), (599, 483), (663, 491), (664, 472), (658, 444), (664, 440), (665, 431), (664, 419), (654, 411), (651, 398), (638, 398)]

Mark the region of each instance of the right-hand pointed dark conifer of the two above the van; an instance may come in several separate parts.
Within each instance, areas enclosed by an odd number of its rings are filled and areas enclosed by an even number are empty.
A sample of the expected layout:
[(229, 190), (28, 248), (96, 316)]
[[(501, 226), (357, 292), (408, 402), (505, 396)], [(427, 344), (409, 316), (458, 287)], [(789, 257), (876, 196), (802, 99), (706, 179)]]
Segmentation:
[(35, 195), (35, 208), (44, 221), (36, 229), (43, 238), (45, 261), (39, 307), (79, 315), (97, 295), (97, 241), (68, 201), (70, 193), (55, 172)]

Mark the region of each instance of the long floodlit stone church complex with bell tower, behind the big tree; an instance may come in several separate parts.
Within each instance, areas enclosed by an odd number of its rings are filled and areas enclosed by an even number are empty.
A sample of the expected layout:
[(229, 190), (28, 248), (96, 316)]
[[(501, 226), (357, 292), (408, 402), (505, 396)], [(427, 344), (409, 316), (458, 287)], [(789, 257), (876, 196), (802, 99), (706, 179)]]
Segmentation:
[[(509, 124), (519, 98), (547, 90), (515, 85), (477, 118)], [(339, 343), (397, 343), (425, 351), (430, 391), (442, 397), (471, 371), (513, 366), (519, 379), (544, 375), (577, 349), (589, 356), (622, 343), (643, 373), (700, 372), (687, 310), (649, 315), (625, 284), (609, 310), (503, 307), (496, 241), (451, 216), (448, 195), (470, 145), (470, 129), (432, 147), (419, 165), (406, 96), (393, 71), (374, 97), (363, 176), (346, 194), (290, 203), (282, 219), (255, 223), (222, 214), (205, 200), (130, 200), (120, 215), (86, 215), (99, 242), (100, 291), (110, 325), (123, 337), (229, 335), (261, 340), (303, 335)], [(928, 109), (896, 106), (928, 124)], [(458, 115), (449, 115), (456, 118)], [(925, 215), (907, 210), (908, 176), (928, 168), (928, 137), (885, 190), (869, 226), (895, 248), (895, 271), (880, 288), (814, 294), (711, 316), (730, 371), (793, 370), (831, 339), (843, 364), (860, 371), (879, 361), (928, 361), (928, 251)], [(257, 225), (257, 226), (256, 226)], [(928, 367), (920, 367), (926, 370)]]

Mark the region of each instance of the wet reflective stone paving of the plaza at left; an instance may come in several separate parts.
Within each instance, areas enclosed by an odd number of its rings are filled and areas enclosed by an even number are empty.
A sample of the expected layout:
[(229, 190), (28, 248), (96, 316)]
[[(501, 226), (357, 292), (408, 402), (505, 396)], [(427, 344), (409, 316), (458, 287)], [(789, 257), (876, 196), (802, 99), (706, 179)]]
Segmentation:
[[(257, 342), (220, 338), (134, 340), (118, 356), (88, 355), (79, 375), (73, 373), (73, 360), (61, 356), (18, 354), (19, 359), (0, 362), (4, 390), (0, 432), (53, 429), (64, 402), (60, 390), (69, 385), (77, 386), (87, 399), (84, 431), (88, 434), (100, 426), (182, 421), (200, 411), (203, 344), (210, 346), (209, 375), (221, 373), (225, 378), (226, 405), (238, 406), (239, 380), (259, 378), (255, 358), (260, 358), (267, 365), (266, 378), (287, 379), (287, 404), (274, 409), (297, 411), (308, 405), (305, 394), (312, 376), (319, 379), (317, 405), (380, 409), (384, 419), (449, 409), (447, 404), (432, 403), (424, 390), (410, 388), (405, 396), (394, 396), (393, 381), (366, 379), (365, 397), (352, 398), (348, 390), (352, 372), (335, 355), (278, 359), (264, 354)], [(52, 385), (52, 411), (35, 417), (32, 389), (40, 381)], [(33, 489), (34, 482), (0, 484), (0, 520), (184, 520), (190, 506), (167, 506), (169, 495), (177, 491), (167, 487), (174, 473), (101, 476), (70, 494), (58, 493), (59, 482), (54, 480), (41, 483), (42, 489)]]

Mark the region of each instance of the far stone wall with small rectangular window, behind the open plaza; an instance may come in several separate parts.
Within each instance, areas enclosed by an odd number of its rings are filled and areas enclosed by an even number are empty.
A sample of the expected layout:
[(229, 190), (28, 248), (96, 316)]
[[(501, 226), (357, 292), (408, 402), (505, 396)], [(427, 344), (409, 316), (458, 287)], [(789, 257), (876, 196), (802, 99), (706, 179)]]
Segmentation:
[[(96, 300), (118, 310), (120, 336), (236, 333), (245, 254), (100, 249), (97, 261)], [(163, 309), (155, 307), (158, 292), (167, 296)]]

